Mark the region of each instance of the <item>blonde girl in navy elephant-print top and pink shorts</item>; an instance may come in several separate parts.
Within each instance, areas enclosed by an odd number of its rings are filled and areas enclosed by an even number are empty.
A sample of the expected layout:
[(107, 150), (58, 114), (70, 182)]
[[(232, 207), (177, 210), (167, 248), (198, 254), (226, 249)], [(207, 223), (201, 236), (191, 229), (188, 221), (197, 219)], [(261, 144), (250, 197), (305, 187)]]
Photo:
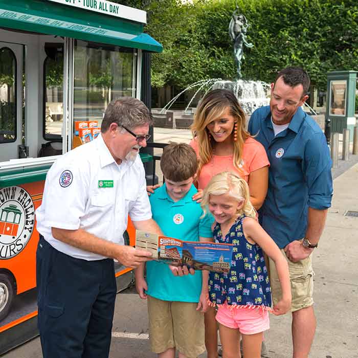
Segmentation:
[[(291, 305), (287, 261), (258, 223), (248, 184), (237, 174), (213, 176), (201, 205), (215, 218), (214, 241), (234, 245), (229, 273), (211, 272), (209, 276), (209, 299), (218, 307), (222, 356), (240, 357), (242, 335), (244, 358), (260, 358), (263, 331), (270, 328), (269, 311), (283, 315)], [(262, 250), (275, 262), (281, 282), (282, 298), (273, 308)]]

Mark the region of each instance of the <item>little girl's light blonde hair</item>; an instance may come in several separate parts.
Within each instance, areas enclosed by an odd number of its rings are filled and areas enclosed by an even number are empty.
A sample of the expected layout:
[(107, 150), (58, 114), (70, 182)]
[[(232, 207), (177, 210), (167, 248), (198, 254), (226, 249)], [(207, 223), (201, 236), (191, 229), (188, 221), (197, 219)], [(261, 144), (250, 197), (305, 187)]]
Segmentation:
[(223, 194), (229, 194), (229, 196), (238, 202), (243, 201), (243, 205), (237, 211), (237, 215), (245, 214), (253, 218), (256, 217), (256, 210), (250, 202), (248, 183), (231, 171), (224, 171), (214, 175), (204, 189), (203, 200), (200, 205), (205, 214), (208, 212), (210, 195)]

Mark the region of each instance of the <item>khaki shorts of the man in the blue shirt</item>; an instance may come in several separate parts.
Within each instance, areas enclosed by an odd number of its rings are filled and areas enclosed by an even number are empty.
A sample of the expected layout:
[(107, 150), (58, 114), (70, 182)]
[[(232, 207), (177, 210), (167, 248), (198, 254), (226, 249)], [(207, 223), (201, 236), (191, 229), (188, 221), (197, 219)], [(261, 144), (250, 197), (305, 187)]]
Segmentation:
[[(292, 262), (288, 260), (286, 253), (281, 249), (283, 256), (288, 263), (289, 278), (291, 281), (292, 305), (291, 312), (312, 306), (313, 300), (313, 278), (315, 276), (312, 270), (312, 254), (307, 258)], [(280, 281), (278, 279), (275, 262), (270, 260), (270, 283), (272, 290), (272, 301), (277, 304), (282, 297)]]

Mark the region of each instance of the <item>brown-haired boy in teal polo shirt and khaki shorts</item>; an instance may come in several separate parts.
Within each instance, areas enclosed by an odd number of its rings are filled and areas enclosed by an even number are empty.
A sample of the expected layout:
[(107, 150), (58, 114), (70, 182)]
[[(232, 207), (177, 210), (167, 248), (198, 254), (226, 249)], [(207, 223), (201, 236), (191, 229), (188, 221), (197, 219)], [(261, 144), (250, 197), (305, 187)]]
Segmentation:
[[(165, 184), (150, 195), (153, 219), (166, 236), (185, 241), (212, 241), (212, 216), (203, 215), (193, 201), (197, 171), (195, 151), (187, 144), (171, 143), (163, 150), (161, 169)], [(173, 276), (167, 264), (146, 263), (136, 270), (136, 287), (148, 298), (151, 349), (159, 358), (195, 358), (205, 351), (204, 315), (208, 308), (208, 272)]]

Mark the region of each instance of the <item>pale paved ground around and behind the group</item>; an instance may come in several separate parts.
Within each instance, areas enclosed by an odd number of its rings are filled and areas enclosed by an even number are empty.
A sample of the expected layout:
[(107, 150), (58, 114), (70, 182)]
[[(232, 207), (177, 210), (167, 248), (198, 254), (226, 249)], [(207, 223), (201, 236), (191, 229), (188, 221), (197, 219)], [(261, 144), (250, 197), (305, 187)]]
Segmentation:
[[(156, 128), (154, 133), (154, 141), (189, 139), (188, 130), (176, 130), (173, 135), (172, 130)], [(355, 241), (358, 217), (345, 216), (347, 211), (358, 212), (358, 164), (355, 163), (356, 158), (349, 163), (340, 162), (340, 168), (332, 171), (335, 177), (332, 208), (314, 256), (318, 326), (312, 358), (358, 358), (358, 245)], [(149, 349), (146, 303), (133, 288), (117, 296), (112, 335), (110, 358), (155, 357)], [(270, 358), (290, 357), (290, 316), (271, 316), (271, 329), (265, 337)], [(38, 338), (4, 355), (4, 358), (37, 357), (41, 357)], [(200, 358), (204, 357), (205, 354)]]

